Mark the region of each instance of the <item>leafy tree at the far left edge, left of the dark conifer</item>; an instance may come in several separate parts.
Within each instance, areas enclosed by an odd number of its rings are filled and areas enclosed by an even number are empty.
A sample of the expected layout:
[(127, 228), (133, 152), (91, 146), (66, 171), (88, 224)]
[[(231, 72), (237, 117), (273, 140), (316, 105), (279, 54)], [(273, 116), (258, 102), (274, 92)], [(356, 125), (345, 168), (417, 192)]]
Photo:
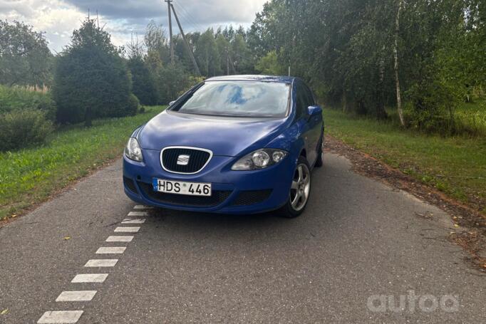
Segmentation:
[(0, 84), (51, 85), (53, 56), (43, 33), (0, 20)]

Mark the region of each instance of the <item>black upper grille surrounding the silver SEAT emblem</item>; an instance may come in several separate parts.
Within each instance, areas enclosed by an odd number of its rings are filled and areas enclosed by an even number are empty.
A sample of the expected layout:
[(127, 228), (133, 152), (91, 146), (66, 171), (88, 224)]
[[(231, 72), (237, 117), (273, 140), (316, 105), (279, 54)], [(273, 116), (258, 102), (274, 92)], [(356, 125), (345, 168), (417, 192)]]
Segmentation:
[[(192, 148), (167, 148), (162, 150), (160, 160), (162, 167), (169, 172), (194, 174), (200, 172), (209, 162), (211, 153)], [(187, 155), (189, 162), (186, 165), (177, 164), (181, 155)]]

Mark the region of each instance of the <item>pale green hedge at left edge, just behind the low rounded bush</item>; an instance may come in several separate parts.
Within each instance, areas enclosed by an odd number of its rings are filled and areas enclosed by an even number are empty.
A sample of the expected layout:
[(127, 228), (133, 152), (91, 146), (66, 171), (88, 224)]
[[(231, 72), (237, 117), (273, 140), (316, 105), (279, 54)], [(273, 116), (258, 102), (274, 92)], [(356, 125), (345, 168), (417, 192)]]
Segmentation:
[(56, 103), (46, 88), (36, 90), (0, 85), (0, 114), (14, 110), (41, 110), (48, 120), (56, 119)]

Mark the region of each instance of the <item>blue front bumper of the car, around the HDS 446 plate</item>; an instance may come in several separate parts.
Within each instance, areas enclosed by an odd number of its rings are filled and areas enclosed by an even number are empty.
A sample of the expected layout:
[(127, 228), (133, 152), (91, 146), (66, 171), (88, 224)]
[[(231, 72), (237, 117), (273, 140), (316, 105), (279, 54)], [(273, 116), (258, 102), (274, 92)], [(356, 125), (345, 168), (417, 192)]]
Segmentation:
[[(144, 162), (123, 157), (125, 194), (152, 207), (220, 214), (258, 214), (279, 209), (289, 198), (296, 158), (268, 169), (232, 171), (237, 158), (214, 156), (197, 174), (174, 174), (162, 169), (160, 151), (143, 150)], [(152, 179), (212, 184), (212, 197), (192, 197), (153, 192)]]

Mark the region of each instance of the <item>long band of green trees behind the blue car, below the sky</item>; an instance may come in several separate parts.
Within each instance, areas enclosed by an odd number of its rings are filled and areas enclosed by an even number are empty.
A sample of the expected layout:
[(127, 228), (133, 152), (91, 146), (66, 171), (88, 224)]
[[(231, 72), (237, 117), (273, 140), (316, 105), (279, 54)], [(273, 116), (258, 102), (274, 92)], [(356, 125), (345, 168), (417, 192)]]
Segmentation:
[[(248, 30), (186, 35), (202, 75), (180, 35), (171, 63), (165, 28), (154, 21), (117, 48), (86, 19), (56, 56), (43, 33), (0, 21), (0, 84), (46, 87), (55, 124), (91, 125), (133, 115), (139, 101), (167, 104), (206, 77), (290, 68), (328, 105), (448, 135), (464, 131), (464, 103), (486, 110), (485, 21), (484, 0), (272, 0)], [(484, 127), (486, 114), (477, 116), (468, 125)]]

